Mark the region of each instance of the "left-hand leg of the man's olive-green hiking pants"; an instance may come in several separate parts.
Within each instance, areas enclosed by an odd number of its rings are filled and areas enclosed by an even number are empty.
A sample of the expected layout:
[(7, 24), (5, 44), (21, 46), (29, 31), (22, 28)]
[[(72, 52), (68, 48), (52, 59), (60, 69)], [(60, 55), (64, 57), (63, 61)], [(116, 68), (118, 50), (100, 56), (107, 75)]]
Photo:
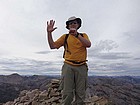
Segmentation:
[(74, 72), (71, 65), (64, 63), (62, 67), (62, 78), (63, 78), (63, 91), (62, 91), (62, 104), (61, 105), (71, 105), (73, 101), (73, 89), (74, 84)]

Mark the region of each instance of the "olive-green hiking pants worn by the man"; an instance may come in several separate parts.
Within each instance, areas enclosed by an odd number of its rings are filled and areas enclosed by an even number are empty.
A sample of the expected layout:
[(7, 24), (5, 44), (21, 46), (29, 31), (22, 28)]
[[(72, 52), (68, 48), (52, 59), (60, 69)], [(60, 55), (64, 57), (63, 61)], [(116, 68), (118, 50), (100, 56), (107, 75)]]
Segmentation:
[(87, 65), (72, 66), (64, 63), (62, 67), (62, 104), (85, 105), (87, 88)]

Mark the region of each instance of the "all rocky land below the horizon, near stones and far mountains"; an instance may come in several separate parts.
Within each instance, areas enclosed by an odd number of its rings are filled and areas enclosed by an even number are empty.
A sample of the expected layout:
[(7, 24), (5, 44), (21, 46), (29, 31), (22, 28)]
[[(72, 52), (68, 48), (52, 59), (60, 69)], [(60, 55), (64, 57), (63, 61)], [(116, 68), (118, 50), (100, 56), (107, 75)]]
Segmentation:
[[(60, 105), (59, 85), (59, 76), (0, 76), (1, 105)], [(140, 77), (91, 76), (86, 93), (86, 105), (140, 105)]]

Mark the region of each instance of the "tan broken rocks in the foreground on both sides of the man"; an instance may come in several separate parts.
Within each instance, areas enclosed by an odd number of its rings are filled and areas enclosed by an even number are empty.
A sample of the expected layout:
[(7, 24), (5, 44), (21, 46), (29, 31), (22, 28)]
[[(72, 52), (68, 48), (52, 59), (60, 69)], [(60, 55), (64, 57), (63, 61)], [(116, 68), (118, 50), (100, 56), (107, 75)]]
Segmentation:
[[(52, 79), (48, 85), (48, 90), (23, 90), (14, 101), (9, 101), (3, 105), (60, 105), (62, 95), (59, 85), (58, 79)], [(106, 105), (107, 103), (108, 100), (106, 98), (98, 96), (87, 97), (86, 100), (86, 105)]]

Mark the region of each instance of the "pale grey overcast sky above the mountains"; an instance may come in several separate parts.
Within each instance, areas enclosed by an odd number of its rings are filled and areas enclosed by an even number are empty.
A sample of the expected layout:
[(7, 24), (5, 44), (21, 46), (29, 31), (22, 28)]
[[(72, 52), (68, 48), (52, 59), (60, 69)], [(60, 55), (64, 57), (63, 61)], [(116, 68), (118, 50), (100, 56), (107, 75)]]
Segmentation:
[(53, 39), (68, 32), (71, 16), (82, 19), (88, 73), (140, 76), (140, 0), (0, 0), (0, 75), (61, 75), (63, 48), (50, 50), (46, 21), (55, 20)]

